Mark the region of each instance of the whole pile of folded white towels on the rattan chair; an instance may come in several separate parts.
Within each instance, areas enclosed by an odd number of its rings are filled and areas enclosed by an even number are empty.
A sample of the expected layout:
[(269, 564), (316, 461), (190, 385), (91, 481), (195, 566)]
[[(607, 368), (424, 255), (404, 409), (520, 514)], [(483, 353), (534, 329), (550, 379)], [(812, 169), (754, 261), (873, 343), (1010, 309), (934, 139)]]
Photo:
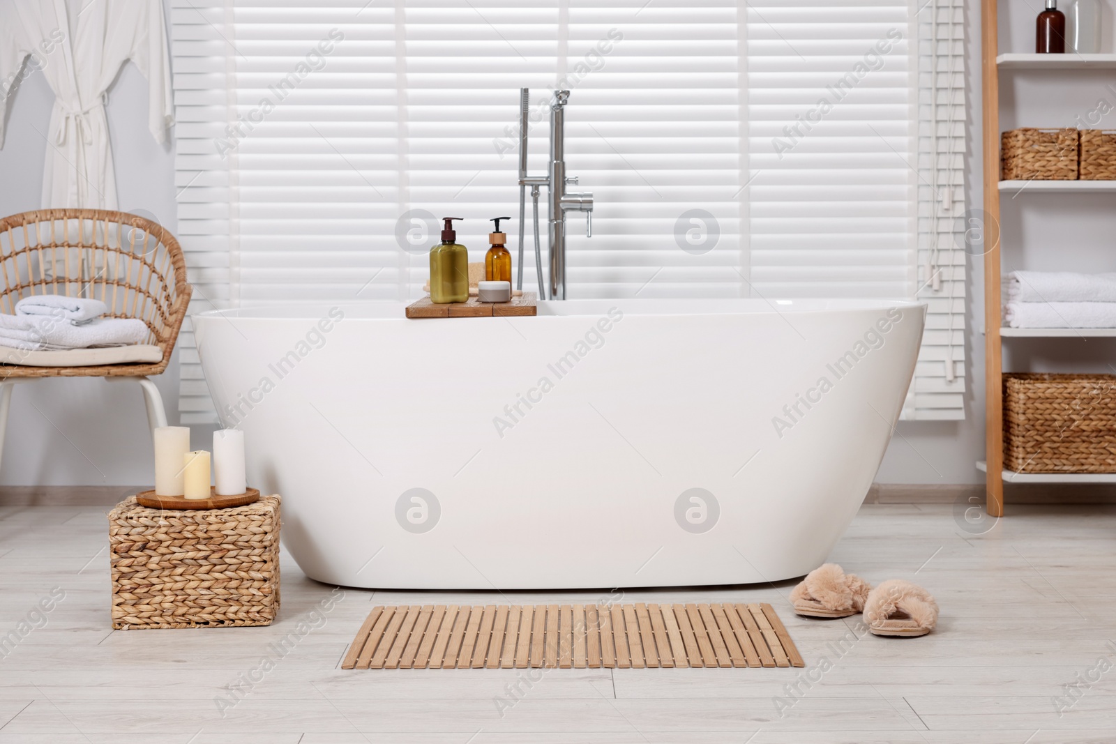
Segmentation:
[(29, 351), (88, 349), (142, 344), (147, 325), (136, 318), (103, 318), (99, 300), (46, 294), (16, 303), (17, 315), (0, 315), (0, 346)]

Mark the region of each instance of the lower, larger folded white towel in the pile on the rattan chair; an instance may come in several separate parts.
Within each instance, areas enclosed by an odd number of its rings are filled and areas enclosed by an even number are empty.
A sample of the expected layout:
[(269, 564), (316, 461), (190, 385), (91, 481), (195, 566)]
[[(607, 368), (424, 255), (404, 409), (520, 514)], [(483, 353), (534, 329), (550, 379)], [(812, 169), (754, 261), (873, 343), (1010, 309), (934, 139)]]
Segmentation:
[(0, 346), (32, 351), (142, 344), (147, 326), (136, 318), (95, 318), (74, 325), (51, 316), (0, 315)]

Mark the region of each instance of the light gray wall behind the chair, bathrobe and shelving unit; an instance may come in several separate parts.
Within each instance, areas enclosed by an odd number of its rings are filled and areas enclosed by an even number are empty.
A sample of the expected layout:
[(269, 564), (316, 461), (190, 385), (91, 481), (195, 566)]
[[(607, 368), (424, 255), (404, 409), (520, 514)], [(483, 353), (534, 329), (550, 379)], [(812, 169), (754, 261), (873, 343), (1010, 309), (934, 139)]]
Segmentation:
[[(1028, 3), (1001, 1), (1001, 51), (1033, 50), (1033, 13)], [(1037, 6), (1036, 6), (1037, 7)], [(1105, 49), (1113, 48), (1107, 7)], [(966, 2), (970, 149), (966, 155), (971, 207), (982, 206), (980, 6)], [(1017, 75), (1001, 80), (1006, 107), (1001, 125), (1074, 126), (1104, 98), (1116, 105), (1112, 76)], [(39, 206), (41, 168), (52, 94), (41, 74), (31, 75), (9, 102), (9, 132), (0, 151), (0, 213)], [(175, 229), (173, 148), (160, 147), (146, 129), (146, 89), (138, 71), (124, 69), (110, 91), (109, 129), (121, 207), (146, 210)], [(1071, 112), (1071, 113), (1067, 113)], [(1087, 126), (1116, 127), (1116, 114)], [(1008, 269), (1116, 271), (1116, 245), (1106, 224), (1108, 195), (1021, 195), (1004, 200), (1003, 247)], [(1026, 231), (1020, 230), (1023, 225)], [(968, 418), (963, 422), (901, 423), (884, 458), (881, 483), (979, 483), (984, 456), (984, 337), (981, 260), (970, 259), (966, 317)], [(1107, 369), (1116, 364), (1116, 341), (1094, 339), (1013, 340), (1006, 368)], [(158, 380), (172, 423), (177, 418), (177, 360)], [(210, 428), (194, 432), (194, 446), (209, 448)], [(46, 380), (18, 389), (12, 404), (0, 484), (140, 484), (152, 480), (151, 441), (140, 392), (99, 379)]]

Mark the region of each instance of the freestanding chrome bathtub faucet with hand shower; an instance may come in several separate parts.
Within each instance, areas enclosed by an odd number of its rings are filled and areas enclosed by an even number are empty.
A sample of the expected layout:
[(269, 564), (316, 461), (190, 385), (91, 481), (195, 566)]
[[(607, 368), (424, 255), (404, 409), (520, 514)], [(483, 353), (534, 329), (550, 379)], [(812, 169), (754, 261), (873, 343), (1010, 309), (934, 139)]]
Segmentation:
[(585, 212), (585, 236), (593, 236), (593, 192), (566, 191), (577, 183), (577, 176), (566, 175), (566, 103), (569, 90), (555, 90), (550, 100), (550, 162), (547, 175), (527, 175), (527, 127), (531, 95), (519, 89), (519, 269), (516, 287), (523, 289), (523, 219), (527, 210), (527, 187), (531, 187), (535, 222), (535, 269), (539, 278), (539, 299), (547, 299), (542, 281), (542, 252), (539, 245), (539, 190), (548, 189), (550, 197), (550, 299), (566, 299), (566, 212)]

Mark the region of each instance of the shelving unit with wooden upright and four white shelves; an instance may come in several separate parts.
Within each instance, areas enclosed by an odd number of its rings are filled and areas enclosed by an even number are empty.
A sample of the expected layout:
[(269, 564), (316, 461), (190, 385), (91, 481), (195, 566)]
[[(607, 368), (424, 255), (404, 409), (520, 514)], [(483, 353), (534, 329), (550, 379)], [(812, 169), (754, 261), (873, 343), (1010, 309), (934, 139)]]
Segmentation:
[(1004, 483), (1116, 483), (1116, 473), (1016, 473), (1003, 468), (1003, 339), (1116, 337), (1113, 328), (1002, 328), (1000, 281), (1000, 199), (1026, 199), (1031, 193), (1116, 192), (1113, 181), (1001, 181), (1000, 71), (1070, 71), (1116, 69), (1116, 55), (998, 54), (998, 0), (981, 0), (981, 79), (983, 80), (984, 253), (984, 383), (988, 513), (1003, 515)]

